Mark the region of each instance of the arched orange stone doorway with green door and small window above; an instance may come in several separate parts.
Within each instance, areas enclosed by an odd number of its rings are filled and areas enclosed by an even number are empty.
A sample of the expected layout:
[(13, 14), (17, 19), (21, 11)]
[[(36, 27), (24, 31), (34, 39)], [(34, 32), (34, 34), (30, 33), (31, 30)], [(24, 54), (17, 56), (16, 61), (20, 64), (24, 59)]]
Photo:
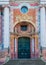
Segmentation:
[(28, 22), (20, 22), (10, 35), (11, 58), (35, 58), (39, 56), (38, 34)]

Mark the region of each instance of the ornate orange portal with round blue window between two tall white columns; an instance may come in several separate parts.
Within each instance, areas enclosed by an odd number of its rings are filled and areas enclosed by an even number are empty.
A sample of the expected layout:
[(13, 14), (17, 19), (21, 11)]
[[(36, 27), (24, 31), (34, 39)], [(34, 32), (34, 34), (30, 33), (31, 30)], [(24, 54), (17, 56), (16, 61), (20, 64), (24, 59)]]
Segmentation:
[[(27, 5), (25, 5), (27, 4)], [(30, 38), (30, 58), (38, 58), (39, 57), (39, 47), (38, 47), (38, 30), (37, 30), (37, 8), (33, 8), (30, 3), (20, 3), (17, 6), (11, 6), (11, 27), (10, 27), (10, 54), (11, 58), (19, 58), (19, 52), (21, 54), (21, 51), (19, 50), (19, 38)], [(20, 8), (19, 8), (20, 7)], [(32, 8), (31, 8), (32, 7)], [(24, 40), (23, 40), (24, 41)], [(21, 42), (21, 45), (23, 43)], [(24, 42), (26, 44), (26, 40)], [(23, 44), (24, 44), (23, 43)], [(28, 44), (28, 43), (27, 43)], [(23, 45), (22, 45), (23, 47)], [(25, 45), (24, 45), (25, 47)], [(28, 50), (22, 50), (23, 55), (27, 54)], [(27, 47), (28, 48), (28, 47)], [(23, 56), (21, 55), (23, 58)], [(21, 58), (20, 57), (20, 58)], [(24, 57), (25, 58), (25, 57)], [(26, 56), (27, 58), (27, 56)]]

